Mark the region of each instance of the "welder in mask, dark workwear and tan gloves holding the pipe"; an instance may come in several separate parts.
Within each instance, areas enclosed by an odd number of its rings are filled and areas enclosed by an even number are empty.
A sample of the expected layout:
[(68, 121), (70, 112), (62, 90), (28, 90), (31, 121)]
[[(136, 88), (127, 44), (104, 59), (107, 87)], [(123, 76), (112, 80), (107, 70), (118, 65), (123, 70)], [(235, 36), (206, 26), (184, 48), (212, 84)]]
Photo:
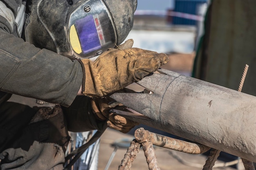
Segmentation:
[[(121, 44), (137, 0), (0, 0), (0, 169), (62, 170), (68, 131), (128, 132), (106, 95), (168, 62)], [(121, 44), (121, 45), (120, 45)], [(95, 61), (90, 60), (97, 57)]]

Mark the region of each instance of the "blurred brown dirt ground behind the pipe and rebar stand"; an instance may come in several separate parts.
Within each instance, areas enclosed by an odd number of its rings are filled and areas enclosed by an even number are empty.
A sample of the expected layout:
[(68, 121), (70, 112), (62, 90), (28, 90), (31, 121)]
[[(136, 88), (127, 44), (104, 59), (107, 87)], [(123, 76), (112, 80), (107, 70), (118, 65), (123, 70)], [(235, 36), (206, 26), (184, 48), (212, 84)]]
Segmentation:
[[(177, 73), (190, 75), (193, 68), (193, 60), (195, 54), (170, 54), (168, 55), (170, 62), (162, 66), (164, 69), (175, 71)], [(131, 88), (134, 86), (131, 85)], [(137, 87), (136, 87), (137, 88)], [(143, 89), (137, 89), (138, 91)], [(130, 141), (134, 139), (133, 135), (123, 134), (117, 130), (108, 128), (101, 137), (101, 145), (99, 151), (99, 170), (106, 170), (108, 161), (115, 147), (112, 146), (115, 142), (123, 144), (121, 141), (126, 141), (124, 147), (119, 147), (115, 156), (110, 163), (108, 170), (118, 170), (121, 160), (127, 151)], [(161, 170), (202, 170), (207, 159), (205, 155), (192, 155), (165, 148), (155, 147), (157, 161)], [(217, 166), (223, 166), (224, 162), (218, 160)], [(213, 168), (214, 170), (234, 170), (231, 167)], [(140, 149), (135, 161), (132, 164), (131, 170), (148, 170), (144, 152)]]

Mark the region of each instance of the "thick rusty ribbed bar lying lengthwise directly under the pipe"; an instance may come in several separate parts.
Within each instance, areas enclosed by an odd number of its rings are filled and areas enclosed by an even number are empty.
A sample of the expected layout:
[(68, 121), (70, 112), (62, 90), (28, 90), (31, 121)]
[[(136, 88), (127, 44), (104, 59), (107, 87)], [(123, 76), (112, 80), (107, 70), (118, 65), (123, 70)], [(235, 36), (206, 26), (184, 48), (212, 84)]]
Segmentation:
[(151, 141), (152, 144), (155, 146), (160, 146), (163, 148), (177, 150), (190, 154), (201, 154), (211, 149), (210, 147), (201, 144), (194, 144), (191, 142), (173, 139), (171, 137), (152, 133), (148, 130), (144, 130), (144, 128), (139, 128), (135, 130), (134, 136), (136, 141), (139, 143)]

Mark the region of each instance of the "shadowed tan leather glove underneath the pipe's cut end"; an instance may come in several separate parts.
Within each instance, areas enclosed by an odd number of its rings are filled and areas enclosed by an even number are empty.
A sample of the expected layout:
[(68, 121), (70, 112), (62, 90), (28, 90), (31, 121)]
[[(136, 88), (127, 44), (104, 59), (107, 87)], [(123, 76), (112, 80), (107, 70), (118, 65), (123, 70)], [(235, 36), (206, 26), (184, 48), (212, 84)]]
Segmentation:
[[(134, 91), (130, 89), (123, 89), (121, 91), (122, 93), (135, 93)], [(118, 93), (118, 92), (117, 92)], [(126, 119), (125, 117), (115, 115), (113, 113), (110, 113), (110, 110), (113, 108), (121, 109), (125, 108), (122, 104), (118, 102), (113, 103), (113, 99), (111, 99), (108, 96), (105, 96), (103, 98), (92, 98), (91, 104), (92, 104), (92, 110), (94, 111), (94, 115), (96, 119), (104, 121), (108, 119), (107, 124), (110, 128), (119, 130), (123, 133), (128, 133), (132, 128), (134, 128), (136, 125), (138, 125), (137, 122)]]

